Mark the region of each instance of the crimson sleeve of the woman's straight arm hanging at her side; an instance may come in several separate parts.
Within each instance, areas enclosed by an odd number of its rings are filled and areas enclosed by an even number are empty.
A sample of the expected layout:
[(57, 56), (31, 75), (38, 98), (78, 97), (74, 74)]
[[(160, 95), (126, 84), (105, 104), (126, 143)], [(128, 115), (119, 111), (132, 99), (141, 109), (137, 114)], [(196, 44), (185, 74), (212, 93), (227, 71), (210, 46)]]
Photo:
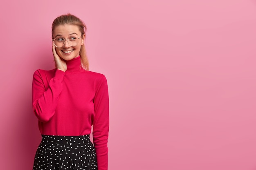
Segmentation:
[(101, 77), (94, 97), (93, 141), (98, 170), (108, 169), (109, 99), (106, 77)]

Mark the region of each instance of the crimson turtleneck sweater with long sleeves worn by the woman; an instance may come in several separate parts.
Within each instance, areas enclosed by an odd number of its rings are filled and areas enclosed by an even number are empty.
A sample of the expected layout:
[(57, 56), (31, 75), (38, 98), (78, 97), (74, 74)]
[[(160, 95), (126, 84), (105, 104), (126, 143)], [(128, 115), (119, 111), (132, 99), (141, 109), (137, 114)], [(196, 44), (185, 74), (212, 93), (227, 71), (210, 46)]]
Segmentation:
[(32, 83), (33, 110), (42, 135), (88, 135), (98, 170), (108, 169), (109, 105), (106, 77), (86, 71), (80, 57), (66, 61), (67, 71), (36, 70)]

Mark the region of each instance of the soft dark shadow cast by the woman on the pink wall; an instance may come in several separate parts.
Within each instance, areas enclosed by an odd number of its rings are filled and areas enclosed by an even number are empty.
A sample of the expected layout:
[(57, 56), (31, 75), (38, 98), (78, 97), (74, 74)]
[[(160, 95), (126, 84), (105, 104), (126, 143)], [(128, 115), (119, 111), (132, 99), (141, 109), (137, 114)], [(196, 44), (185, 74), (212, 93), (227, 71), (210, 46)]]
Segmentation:
[[(50, 44), (45, 44), (49, 47)], [(38, 48), (38, 47), (37, 47)], [(25, 81), (19, 84), (19, 93), (16, 94), (13, 106), (17, 106), (14, 109), (15, 113), (15, 123), (12, 125), (11, 132), (16, 135), (12, 135), (10, 138), (13, 146), (12, 158), (14, 158), (15, 163), (9, 167), (11, 169), (17, 170), (29, 170), (33, 167), (34, 156), (38, 145), (41, 141), (41, 134), (38, 129), (38, 119), (32, 110), (32, 98), (31, 98), (31, 88), (32, 88), (32, 78), (33, 73), (38, 68), (49, 70), (54, 68), (52, 49), (38, 49), (38, 52), (29, 54), (30, 64), (23, 73), (25, 75), (22, 79)]]

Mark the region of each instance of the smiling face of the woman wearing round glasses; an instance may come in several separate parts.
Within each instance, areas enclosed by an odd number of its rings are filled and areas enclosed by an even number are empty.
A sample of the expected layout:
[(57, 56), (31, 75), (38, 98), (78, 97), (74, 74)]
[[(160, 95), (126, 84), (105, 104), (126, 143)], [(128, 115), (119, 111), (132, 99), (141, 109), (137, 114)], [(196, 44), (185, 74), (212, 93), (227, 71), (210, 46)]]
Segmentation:
[[(62, 59), (68, 61), (79, 56), (81, 45), (84, 44), (84, 40), (85, 40), (85, 35), (81, 36), (81, 34), (82, 34), (81, 31), (79, 31), (79, 28), (76, 25), (65, 24), (65, 25), (59, 25), (55, 27), (53, 31), (53, 38), (59, 41), (61, 40), (63, 41), (64, 39), (66, 39), (64, 46), (59, 48), (55, 47), (57, 54)], [(71, 40), (74, 40), (75, 38), (79, 38), (78, 44), (76, 46), (70, 46), (70, 44), (72, 44)]]

